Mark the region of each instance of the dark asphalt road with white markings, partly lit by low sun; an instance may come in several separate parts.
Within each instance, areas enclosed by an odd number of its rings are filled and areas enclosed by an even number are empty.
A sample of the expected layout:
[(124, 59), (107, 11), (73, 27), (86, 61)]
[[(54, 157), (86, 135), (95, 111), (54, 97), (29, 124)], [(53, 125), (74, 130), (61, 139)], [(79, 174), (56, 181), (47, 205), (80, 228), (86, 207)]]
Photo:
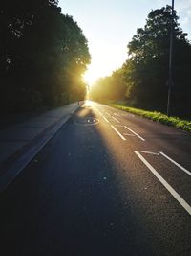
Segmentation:
[(191, 255), (190, 171), (190, 134), (86, 103), (2, 193), (1, 255)]

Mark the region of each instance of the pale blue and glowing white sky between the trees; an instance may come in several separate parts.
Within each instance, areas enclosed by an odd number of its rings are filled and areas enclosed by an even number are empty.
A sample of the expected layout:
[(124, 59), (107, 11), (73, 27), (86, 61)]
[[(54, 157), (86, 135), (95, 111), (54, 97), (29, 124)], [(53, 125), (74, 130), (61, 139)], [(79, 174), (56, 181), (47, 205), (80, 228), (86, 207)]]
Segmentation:
[[(191, 40), (191, 0), (174, 0), (180, 27)], [(73, 16), (88, 40), (91, 64), (85, 80), (91, 85), (111, 75), (128, 58), (127, 44), (144, 27), (152, 10), (172, 0), (59, 0), (62, 13)]]

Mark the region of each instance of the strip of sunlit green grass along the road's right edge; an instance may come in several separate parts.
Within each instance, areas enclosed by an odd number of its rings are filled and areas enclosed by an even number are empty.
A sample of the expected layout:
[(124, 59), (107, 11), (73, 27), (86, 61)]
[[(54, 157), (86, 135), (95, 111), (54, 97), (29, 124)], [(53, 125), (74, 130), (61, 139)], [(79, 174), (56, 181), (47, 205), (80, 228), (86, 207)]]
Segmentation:
[(168, 126), (180, 128), (185, 131), (191, 132), (191, 121), (182, 120), (179, 117), (168, 117), (167, 115), (162, 114), (160, 112), (146, 111), (143, 109), (138, 109), (138, 108), (129, 107), (129, 106), (125, 106), (125, 105), (118, 105), (118, 104), (109, 104), (109, 105), (114, 106), (123, 111), (137, 114), (139, 116), (146, 117), (146, 118), (154, 120), (156, 122), (166, 124)]

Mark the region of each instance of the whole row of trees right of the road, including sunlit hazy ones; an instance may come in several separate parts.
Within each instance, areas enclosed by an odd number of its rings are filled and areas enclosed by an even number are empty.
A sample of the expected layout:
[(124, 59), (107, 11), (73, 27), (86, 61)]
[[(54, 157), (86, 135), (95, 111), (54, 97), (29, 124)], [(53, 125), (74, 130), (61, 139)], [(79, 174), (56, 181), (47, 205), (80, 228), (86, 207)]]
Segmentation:
[[(191, 44), (180, 29), (177, 12), (174, 12), (173, 19), (174, 86), (170, 109), (173, 115), (191, 116)], [(113, 73), (111, 77), (100, 79), (93, 86), (91, 97), (100, 101), (125, 98), (127, 105), (165, 112), (170, 28), (170, 6), (150, 12), (144, 28), (139, 28), (128, 44), (129, 58), (115, 72), (120, 78), (116, 80)], [(122, 94), (121, 88), (124, 87)]]

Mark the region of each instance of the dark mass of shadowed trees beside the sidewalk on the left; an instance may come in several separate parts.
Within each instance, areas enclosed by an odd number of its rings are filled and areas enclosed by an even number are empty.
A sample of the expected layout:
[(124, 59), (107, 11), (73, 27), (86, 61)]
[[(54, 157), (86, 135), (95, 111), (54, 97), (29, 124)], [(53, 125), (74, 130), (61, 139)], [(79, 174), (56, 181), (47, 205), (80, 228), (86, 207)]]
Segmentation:
[(88, 42), (57, 0), (0, 5), (0, 107), (31, 110), (83, 99)]

